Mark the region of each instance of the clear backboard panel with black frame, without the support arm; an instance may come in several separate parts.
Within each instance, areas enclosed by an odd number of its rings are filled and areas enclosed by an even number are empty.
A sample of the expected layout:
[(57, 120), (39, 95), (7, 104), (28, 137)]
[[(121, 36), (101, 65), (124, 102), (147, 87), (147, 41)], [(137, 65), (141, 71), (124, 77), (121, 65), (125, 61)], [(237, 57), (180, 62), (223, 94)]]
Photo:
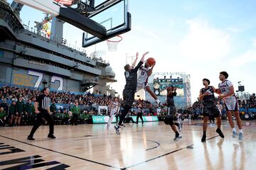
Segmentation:
[(82, 47), (95, 45), (131, 30), (128, 0), (92, 0), (92, 2), (95, 5), (95, 11), (88, 13), (88, 18), (103, 26), (107, 33), (100, 38), (88, 32), (83, 33)]

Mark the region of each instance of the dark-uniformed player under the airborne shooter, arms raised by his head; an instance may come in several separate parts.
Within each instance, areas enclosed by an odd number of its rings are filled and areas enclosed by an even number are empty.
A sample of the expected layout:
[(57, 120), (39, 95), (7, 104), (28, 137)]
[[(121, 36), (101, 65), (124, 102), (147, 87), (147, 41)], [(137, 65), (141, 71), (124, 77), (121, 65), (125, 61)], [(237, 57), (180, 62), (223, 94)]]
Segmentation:
[(174, 140), (181, 140), (181, 135), (178, 133), (178, 130), (176, 130), (176, 126), (179, 126), (179, 123), (174, 123), (175, 117), (176, 117), (176, 108), (174, 104), (174, 96), (177, 95), (176, 88), (173, 86), (169, 86), (167, 89), (167, 97), (166, 97), (166, 103), (168, 106), (168, 113), (166, 117), (164, 118), (164, 123), (166, 125), (170, 125), (171, 129), (175, 132)]

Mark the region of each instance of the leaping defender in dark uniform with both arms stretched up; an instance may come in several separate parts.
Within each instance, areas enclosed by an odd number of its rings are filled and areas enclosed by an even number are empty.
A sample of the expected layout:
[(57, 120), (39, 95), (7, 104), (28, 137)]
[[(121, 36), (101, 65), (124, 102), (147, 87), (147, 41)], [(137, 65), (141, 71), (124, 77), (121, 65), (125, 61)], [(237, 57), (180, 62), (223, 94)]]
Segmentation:
[[(132, 108), (132, 103), (134, 102), (134, 94), (137, 89), (137, 72), (140, 67), (142, 67), (142, 64), (144, 63), (144, 57), (149, 52), (146, 52), (144, 55), (142, 55), (142, 59), (140, 60), (139, 64), (137, 64), (137, 67), (133, 68), (129, 64), (126, 64), (124, 66), (124, 76), (126, 80), (126, 84), (124, 86), (123, 91), (123, 98), (124, 98), (124, 109), (120, 115), (119, 123), (117, 125), (114, 125), (114, 130), (116, 130), (117, 135), (119, 135), (119, 128), (120, 125), (122, 125), (122, 122), (124, 121), (125, 116), (129, 112), (129, 109)], [(137, 53), (138, 55), (138, 53)]]

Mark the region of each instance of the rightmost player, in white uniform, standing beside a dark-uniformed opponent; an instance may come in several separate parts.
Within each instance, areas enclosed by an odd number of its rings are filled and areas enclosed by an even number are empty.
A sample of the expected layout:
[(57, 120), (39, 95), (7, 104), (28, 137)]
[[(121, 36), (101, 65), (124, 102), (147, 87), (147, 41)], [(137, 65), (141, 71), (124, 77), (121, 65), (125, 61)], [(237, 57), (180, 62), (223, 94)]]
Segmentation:
[(216, 92), (220, 94), (218, 98), (223, 99), (225, 104), (225, 110), (228, 114), (228, 122), (230, 123), (230, 127), (233, 129), (233, 137), (238, 136), (238, 132), (236, 132), (233, 119), (232, 119), (232, 112), (235, 113), (235, 118), (238, 123), (239, 128), (239, 140), (242, 140), (242, 121), (239, 115), (239, 108), (238, 108), (238, 100), (235, 97), (234, 86), (231, 81), (228, 80), (228, 73), (227, 72), (220, 72), (220, 84), (219, 89), (216, 89)]

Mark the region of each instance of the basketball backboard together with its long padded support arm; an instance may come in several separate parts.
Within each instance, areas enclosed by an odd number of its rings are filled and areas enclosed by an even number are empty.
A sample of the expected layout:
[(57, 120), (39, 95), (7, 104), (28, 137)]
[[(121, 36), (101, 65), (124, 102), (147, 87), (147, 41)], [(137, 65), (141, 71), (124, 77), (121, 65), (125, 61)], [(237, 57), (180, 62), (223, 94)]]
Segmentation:
[[(15, 0), (50, 13), (84, 30), (82, 47), (89, 47), (131, 30), (129, 0)], [(65, 2), (65, 3), (64, 3)], [(69, 5), (66, 5), (66, 4)]]

